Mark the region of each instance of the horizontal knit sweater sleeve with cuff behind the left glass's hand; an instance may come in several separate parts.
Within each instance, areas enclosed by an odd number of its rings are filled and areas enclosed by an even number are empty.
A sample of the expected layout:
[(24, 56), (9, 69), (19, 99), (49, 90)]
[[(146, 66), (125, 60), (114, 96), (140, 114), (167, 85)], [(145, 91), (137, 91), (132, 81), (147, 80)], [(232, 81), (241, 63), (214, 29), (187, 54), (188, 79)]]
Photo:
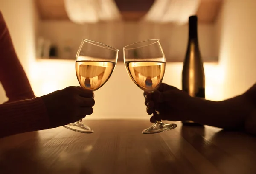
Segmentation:
[(49, 129), (49, 118), (40, 97), (0, 105), (0, 138)]

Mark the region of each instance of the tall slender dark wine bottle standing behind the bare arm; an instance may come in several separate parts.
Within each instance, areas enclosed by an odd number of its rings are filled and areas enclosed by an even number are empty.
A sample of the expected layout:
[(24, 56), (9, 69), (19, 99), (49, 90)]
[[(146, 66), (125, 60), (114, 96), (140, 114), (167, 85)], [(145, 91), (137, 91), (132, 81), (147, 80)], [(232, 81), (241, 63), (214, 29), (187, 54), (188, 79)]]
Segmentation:
[[(205, 98), (204, 67), (198, 45), (197, 16), (189, 17), (189, 41), (182, 70), (182, 90), (192, 97)], [(184, 125), (200, 125), (182, 121)]]

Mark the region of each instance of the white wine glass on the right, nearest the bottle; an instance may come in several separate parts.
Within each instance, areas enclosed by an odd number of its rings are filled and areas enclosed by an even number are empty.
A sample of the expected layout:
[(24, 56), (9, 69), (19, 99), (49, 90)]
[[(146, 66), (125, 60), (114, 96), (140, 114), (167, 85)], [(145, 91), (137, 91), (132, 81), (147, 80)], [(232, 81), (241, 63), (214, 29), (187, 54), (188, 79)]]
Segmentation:
[[(123, 48), (125, 67), (132, 81), (140, 89), (153, 93), (162, 82), (166, 60), (159, 39), (150, 39)], [(166, 124), (159, 118), (157, 108), (154, 111), (155, 123), (142, 131), (143, 134), (165, 132), (177, 127)]]

